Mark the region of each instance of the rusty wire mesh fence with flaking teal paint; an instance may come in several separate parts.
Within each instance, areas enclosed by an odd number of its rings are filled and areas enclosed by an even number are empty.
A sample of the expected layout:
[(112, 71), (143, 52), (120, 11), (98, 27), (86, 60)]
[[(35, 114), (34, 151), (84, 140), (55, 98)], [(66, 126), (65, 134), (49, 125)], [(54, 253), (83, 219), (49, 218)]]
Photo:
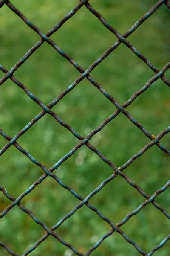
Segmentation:
[[(156, 201), (155, 198), (162, 192), (164, 192), (169, 186), (170, 186), (170, 180), (160, 189), (158, 189), (153, 195), (148, 195), (144, 190), (138, 186), (136, 183), (134, 183), (130, 178), (123, 172), (124, 169), (127, 168), (136, 158), (140, 157), (142, 154), (144, 154), (145, 151), (147, 151), (150, 147), (153, 145), (156, 145), (159, 147), (164, 153), (166, 153), (168, 156), (170, 156), (170, 150), (168, 150), (164, 145), (162, 145), (159, 140), (168, 132), (170, 132), (170, 126), (165, 128), (164, 131), (162, 131), (157, 136), (154, 136), (153, 134), (150, 134), (149, 131), (147, 131), (142, 124), (140, 124), (136, 119), (133, 118), (133, 116), (126, 110), (126, 107), (130, 105), (140, 94), (144, 93), (145, 90), (147, 90), (151, 84), (153, 84), (154, 81), (161, 78), (162, 81), (164, 81), (167, 86), (170, 87), (170, 81), (164, 76), (164, 73), (170, 68), (170, 62), (167, 63), (161, 70), (158, 70), (144, 55), (142, 55), (141, 52), (139, 52), (129, 41), (127, 41), (127, 37), (132, 34), (147, 18), (149, 18), (161, 5), (165, 4), (168, 9), (170, 9), (170, 1), (168, 0), (159, 0), (143, 17), (141, 17), (124, 35), (121, 35), (113, 26), (111, 26), (104, 17), (102, 17), (99, 12), (97, 12), (89, 3), (88, 0), (81, 0), (75, 6), (74, 9), (71, 10), (65, 17), (62, 18), (50, 31), (44, 35), (40, 29), (38, 29), (30, 20), (27, 19), (26, 16), (23, 15), (15, 6), (8, 0), (1, 0), (0, 1), (0, 8), (6, 4), (9, 9), (11, 9), (12, 12), (14, 12), (16, 15), (18, 15), (31, 29), (33, 29), (38, 35), (40, 35), (40, 40), (35, 44), (24, 56), (20, 59), (20, 61), (17, 62), (17, 64), (14, 65), (14, 67), (11, 68), (11, 70), (6, 70), (5, 67), (0, 65), (0, 70), (2, 70), (5, 75), (2, 79), (0, 79), (0, 85), (3, 84), (8, 78), (10, 78), (17, 86), (21, 87), (27, 95), (34, 100), (40, 107), (42, 108), (42, 111), (34, 117), (34, 119), (31, 120), (31, 122), (26, 125), (21, 131), (19, 131), (13, 138), (8, 136), (2, 129), (0, 129), (0, 134), (8, 140), (8, 143), (0, 150), (0, 155), (2, 155), (11, 145), (14, 145), (20, 152), (25, 154), (33, 163), (35, 163), (37, 166), (40, 166), (40, 168), (44, 171), (44, 175), (42, 175), (38, 180), (36, 180), (25, 192), (23, 192), (18, 198), (14, 198), (13, 196), (9, 195), (9, 193), (0, 186), (0, 190), (3, 192), (3, 194), (11, 200), (11, 204), (6, 207), (6, 209), (3, 210), (3, 212), (0, 213), (0, 218), (5, 216), (10, 209), (12, 209), (15, 205), (17, 205), (23, 212), (26, 212), (37, 224), (39, 224), (41, 227), (44, 228), (46, 231), (45, 235), (42, 236), (31, 248), (26, 250), (22, 255), (26, 256), (29, 253), (31, 253), (33, 250), (35, 250), (42, 241), (44, 241), (48, 236), (54, 236), (60, 243), (62, 243), (64, 246), (69, 247), (75, 254), (80, 256), (88, 256), (91, 254), (92, 251), (96, 250), (97, 247), (108, 237), (113, 234), (113, 232), (119, 233), (121, 236), (124, 237), (124, 239), (133, 245), (133, 247), (138, 250), (139, 253), (142, 255), (151, 256), (153, 253), (164, 246), (164, 244), (170, 239), (170, 235), (164, 238), (163, 241), (161, 241), (160, 244), (158, 244), (156, 247), (150, 250), (149, 253), (142, 250), (142, 248), (139, 247), (138, 244), (136, 244), (135, 241), (131, 240), (121, 229), (120, 227), (125, 224), (133, 215), (136, 215), (138, 212), (140, 212), (147, 204), (152, 203), (157, 209), (159, 209), (168, 219), (170, 219), (170, 214), (161, 207)], [(71, 58), (67, 53), (63, 52), (62, 49), (60, 49), (57, 44), (50, 39), (50, 36), (56, 32), (68, 19), (70, 19), (83, 5), (86, 6), (86, 8), (93, 13), (100, 21), (101, 23), (109, 29), (111, 32), (113, 32), (114, 35), (118, 38), (116, 43), (114, 43), (109, 49), (107, 49), (90, 67), (88, 67), (87, 70), (84, 70), (82, 67), (80, 67), (74, 60)], [(20, 67), (30, 56), (33, 52), (36, 51), (44, 42), (47, 42), (50, 44), (60, 55), (62, 55), (64, 58), (66, 58), (80, 73), (81, 75), (70, 85), (68, 88), (66, 88), (64, 91), (62, 91), (52, 102), (50, 102), (47, 106), (36, 96), (34, 96), (31, 91), (22, 84), (17, 78), (13, 75), (14, 72)], [(94, 68), (101, 63), (113, 50), (115, 50), (120, 44), (125, 44), (132, 52), (134, 52), (135, 55), (137, 55), (139, 58), (144, 61), (148, 67), (150, 67), (151, 70), (153, 70), (156, 75), (153, 76), (147, 83), (136, 93), (134, 93), (130, 99), (127, 100), (123, 105), (120, 105), (119, 102), (116, 101), (110, 94), (107, 93), (107, 91), (97, 82), (95, 81), (91, 76), (90, 73)], [(109, 116), (107, 119), (105, 119), (101, 125), (99, 125), (95, 130), (91, 131), (91, 133), (88, 134), (86, 137), (82, 137), (79, 135), (74, 129), (65, 123), (54, 111), (51, 110), (51, 108), (56, 105), (60, 99), (62, 99), (67, 93), (69, 93), (73, 88), (80, 82), (82, 79), (87, 78), (88, 81), (91, 82), (100, 92), (105, 95), (117, 108), (117, 110)], [(117, 167), (112, 161), (108, 160), (98, 149), (96, 149), (91, 143), (89, 143), (89, 140), (91, 137), (94, 136), (94, 134), (98, 133), (102, 130), (102, 128), (108, 124), (111, 120), (113, 120), (119, 113), (122, 112), (127, 118), (134, 124), (136, 127), (138, 127), (148, 138), (150, 138), (150, 143), (144, 146), (139, 152), (137, 152), (133, 157), (131, 157), (125, 164), (123, 164), (120, 167)], [(40, 120), (42, 116), (45, 114), (50, 114), (54, 117), (54, 119), (57, 120), (62, 126), (67, 128), (75, 137), (77, 137), (80, 142), (75, 145), (74, 148), (71, 149), (71, 151), (68, 152), (65, 156), (63, 156), (54, 166), (52, 166), (50, 169), (47, 169), (42, 163), (38, 162), (28, 151), (26, 151), (24, 148), (22, 148), (18, 143), (17, 140), (26, 132), (29, 128), (31, 128), (32, 125), (34, 125), (35, 122)], [(67, 160), (71, 155), (74, 154), (82, 145), (86, 145), (90, 150), (94, 151), (105, 163), (107, 163), (111, 168), (113, 169), (113, 174), (105, 179), (94, 191), (92, 191), (86, 198), (83, 198), (81, 195), (77, 194), (74, 189), (72, 189), (70, 186), (66, 185), (62, 182), (62, 180), (57, 177), (53, 173), (55, 169), (57, 169), (65, 160)], [(139, 207), (134, 210), (133, 212), (130, 212), (122, 221), (119, 221), (119, 223), (114, 224), (113, 221), (111, 221), (109, 218), (107, 218), (105, 215), (102, 214), (102, 212), (99, 211), (96, 207), (91, 205), (88, 201), (90, 198), (92, 198), (96, 193), (98, 193), (108, 182), (113, 180), (117, 175), (122, 176), (127, 183), (130, 184), (130, 186), (133, 186), (141, 195), (144, 196), (145, 201), (139, 205)], [(71, 212), (68, 212), (67, 215), (65, 215), (56, 225), (49, 228), (47, 225), (37, 219), (35, 215), (28, 209), (26, 209), (20, 201), (28, 194), (30, 193), (38, 184), (40, 184), (47, 176), (51, 176), (54, 180), (57, 181), (62, 187), (67, 189), (69, 192), (71, 192), (74, 197), (78, 198), (80, 200), (80, 203), (77, 204), (74, 209), (71, 210)], [(76, 248), (73, 247), (73, 245), (67, 243), (57, 235), (57, 233), (54, 232), (67, 218), (70, 218), (74, 212), (76, 212), (79, 208), (81, 208), (83, 205), (86, 205), (89, 209), (96, 212), (97, 215), (99, 215), (102, 220), (106, 221), (110, 226), (111, 229), (103, 235), (99, 241), (96, 242), (89, 250), (83, 254), (76, 250)], [(4, 244), (3, 242), (0, 242), (0, 246), (4, 247), (8, 253), (14, 256), (19, 256), (18, 253), (13, 252), (7, 244)]]

